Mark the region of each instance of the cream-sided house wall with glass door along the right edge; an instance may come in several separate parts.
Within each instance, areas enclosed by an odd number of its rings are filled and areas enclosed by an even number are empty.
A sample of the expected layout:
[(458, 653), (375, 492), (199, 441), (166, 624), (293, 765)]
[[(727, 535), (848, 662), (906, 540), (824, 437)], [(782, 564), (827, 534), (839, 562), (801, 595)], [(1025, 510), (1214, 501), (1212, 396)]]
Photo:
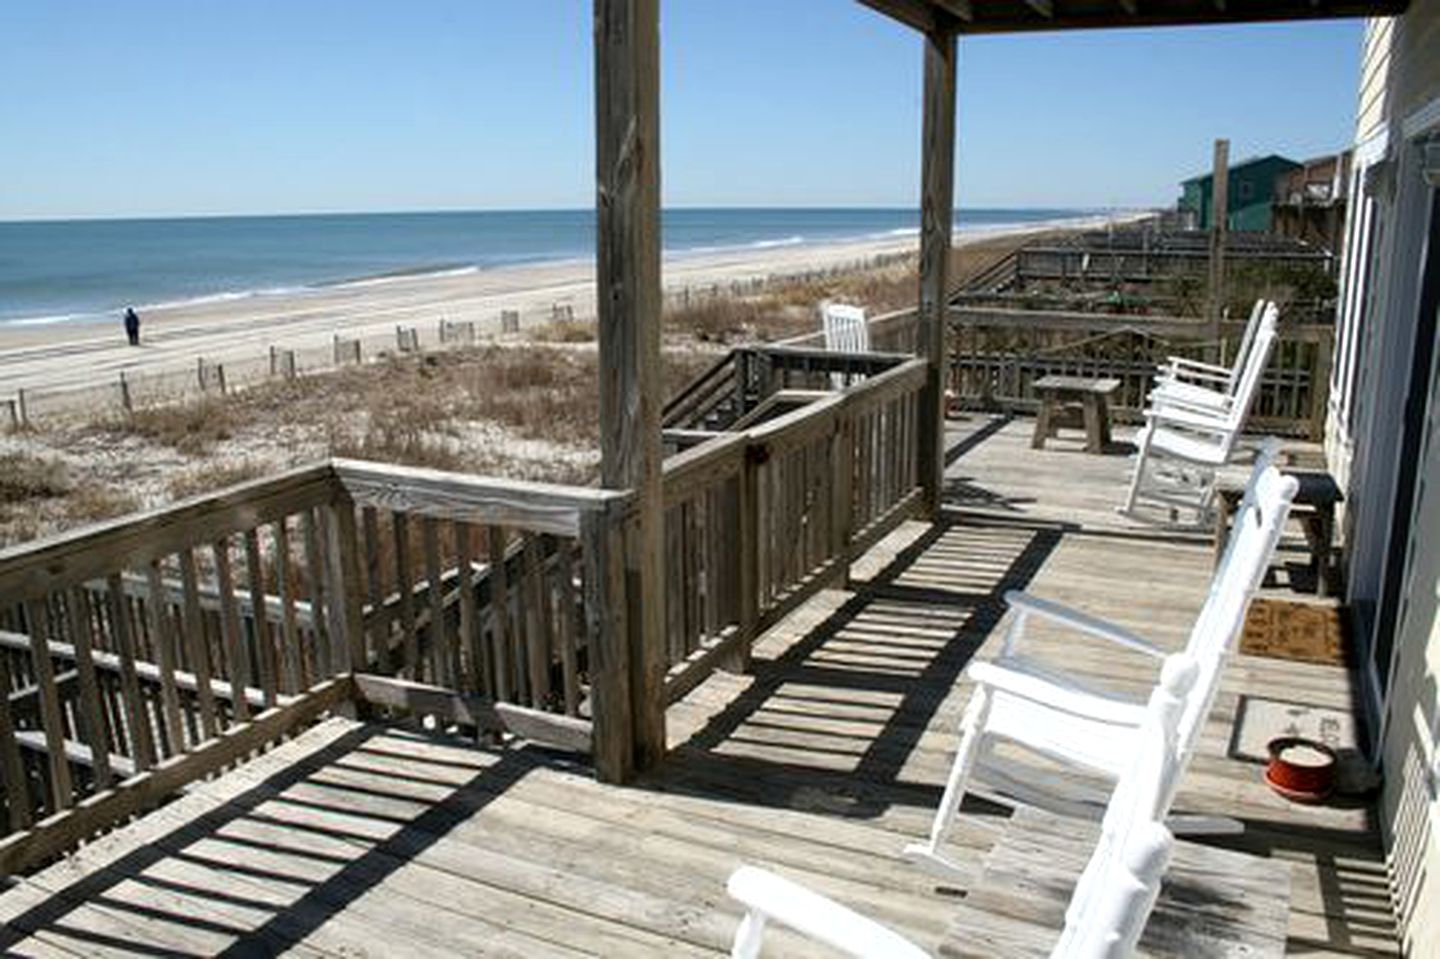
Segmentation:
[[(1346, 599), (1385, 773), (1381, 828), (1416, 956), (1440, 955), (1440, 333), (1433, 304), (1421, 308), (1440, 223), (1420, 173), (1420, 143), (1440, 132), (1436, 50), (1440, 0), (1413, 0), (1365, 30), (1326, 436), (1348, 497)], [(1428, 369), (1417, 367), (1431, 344)]]

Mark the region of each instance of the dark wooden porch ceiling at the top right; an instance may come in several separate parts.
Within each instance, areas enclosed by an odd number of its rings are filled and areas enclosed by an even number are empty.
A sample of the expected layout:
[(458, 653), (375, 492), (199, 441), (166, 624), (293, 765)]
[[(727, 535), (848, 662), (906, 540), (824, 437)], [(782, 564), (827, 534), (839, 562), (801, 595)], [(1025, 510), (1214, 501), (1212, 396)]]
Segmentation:
[(917, 30), (1018, 33), (1397, 16), (1408, 0), (860, 0)]

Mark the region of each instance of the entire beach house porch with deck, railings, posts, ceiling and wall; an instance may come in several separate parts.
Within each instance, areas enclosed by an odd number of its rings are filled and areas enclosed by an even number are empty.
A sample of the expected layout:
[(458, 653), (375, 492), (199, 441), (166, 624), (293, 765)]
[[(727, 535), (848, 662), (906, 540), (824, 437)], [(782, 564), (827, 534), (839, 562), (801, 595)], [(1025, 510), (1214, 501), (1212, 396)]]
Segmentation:
[[(1338, 346), (1287, 331), (1323, 363), (1261, 390), (1297, 438), (1328, 405), (1359, 668), (1234, 657), (1176, 809), (1238, 832), (1176, 845), (1142, 945), (1440, 950), (1440, 0), (864, 1), (924, 65), (917, 305), (868, 350), (740, 347), (664, 402), (660, 10), (596, 0), (600, 487), (334, 459), (0, 550), (0, 946), (720, 955), (726, 877), (762, 861), (945, 955), (1048, 952), (1090, 824), (968, 803), (956, 875), (900, 857), (963, 670), (1012, 589), (1176, 649), (1214, 547), (1116, 515), (1125, 456), (945, 418), (973, 315), (946, 302), (959, 40), (1375, 16)], [(1195, 325), (1155, 348), (1223, 346)], [(1292, 713), (1374, 757), (1378, 829), (1365, 799), (1263, 785), (1254, 730)]]

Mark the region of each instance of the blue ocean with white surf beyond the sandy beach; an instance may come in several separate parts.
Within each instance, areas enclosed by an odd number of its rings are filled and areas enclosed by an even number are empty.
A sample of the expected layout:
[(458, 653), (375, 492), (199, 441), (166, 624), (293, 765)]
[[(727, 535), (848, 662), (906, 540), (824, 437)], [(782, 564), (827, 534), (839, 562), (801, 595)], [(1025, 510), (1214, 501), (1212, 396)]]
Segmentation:
[[(1096, 216), (975, 209), (958, 230)], [(914, 209), (672, 209), (667, 256), (914, 233)], [(0, 222), (0, 323), (593, 256), (593, 210)]]

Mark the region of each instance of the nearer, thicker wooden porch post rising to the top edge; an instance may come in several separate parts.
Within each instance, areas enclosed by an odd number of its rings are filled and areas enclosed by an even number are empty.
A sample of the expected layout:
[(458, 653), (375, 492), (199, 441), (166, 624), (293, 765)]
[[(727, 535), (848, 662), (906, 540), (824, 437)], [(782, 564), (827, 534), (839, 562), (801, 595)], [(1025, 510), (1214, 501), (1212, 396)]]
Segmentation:
[(658, 0), (595, 0), (595, 122), (600, 482), (632, 490), (638, 513), (625, 582), (634, 757), (645, 769), (665, 755)]

